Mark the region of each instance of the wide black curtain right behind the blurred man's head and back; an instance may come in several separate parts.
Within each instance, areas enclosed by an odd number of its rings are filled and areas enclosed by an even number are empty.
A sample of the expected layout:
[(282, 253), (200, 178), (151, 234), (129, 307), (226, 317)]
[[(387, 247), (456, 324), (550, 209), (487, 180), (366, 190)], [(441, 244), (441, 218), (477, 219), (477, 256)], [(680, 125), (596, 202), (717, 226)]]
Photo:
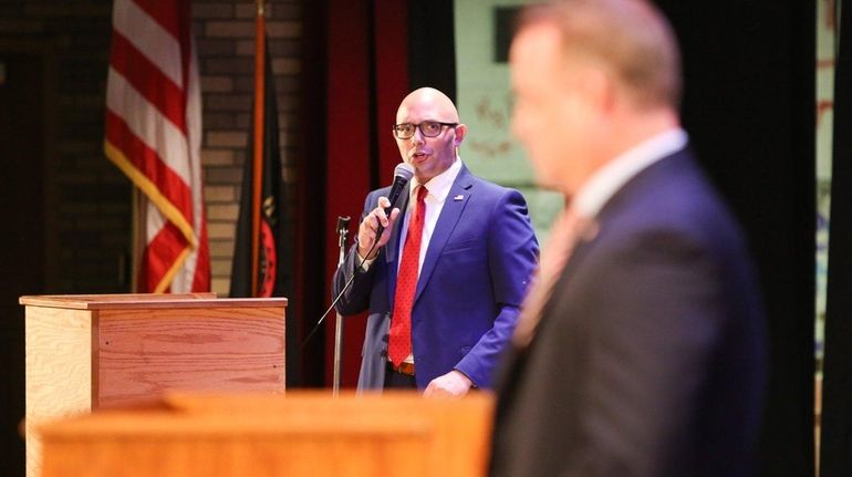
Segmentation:
[(657, 3), (683, 51), (683, 122), (746, 229), (762, 287), (760, 475), (813, 475), (815, 4)]

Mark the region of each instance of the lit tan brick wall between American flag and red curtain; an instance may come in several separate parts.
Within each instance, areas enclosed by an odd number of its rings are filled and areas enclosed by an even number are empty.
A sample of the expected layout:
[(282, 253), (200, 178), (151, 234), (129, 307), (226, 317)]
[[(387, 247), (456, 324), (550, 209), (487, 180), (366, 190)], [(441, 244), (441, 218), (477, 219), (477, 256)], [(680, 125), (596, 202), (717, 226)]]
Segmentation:
[[(301, 3), (273, 1), (267, 11), (276, 76), (284, 180), (293, 185), (299, 98)], [(254, 2), (196, 1), (195, 32), (204, 92), (205, 191), (212, 289), (226, 294), (254, 87)]]

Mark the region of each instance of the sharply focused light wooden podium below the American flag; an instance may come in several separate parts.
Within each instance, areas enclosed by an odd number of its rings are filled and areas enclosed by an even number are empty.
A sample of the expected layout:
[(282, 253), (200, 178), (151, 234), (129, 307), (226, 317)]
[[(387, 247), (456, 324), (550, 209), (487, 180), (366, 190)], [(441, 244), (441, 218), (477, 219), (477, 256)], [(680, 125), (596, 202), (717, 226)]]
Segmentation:
[(33, 426), (153, 402), (168, 391), (284, 391), (287, 299), (200, 294), (21, 297), (27, 307), (27, 474)]

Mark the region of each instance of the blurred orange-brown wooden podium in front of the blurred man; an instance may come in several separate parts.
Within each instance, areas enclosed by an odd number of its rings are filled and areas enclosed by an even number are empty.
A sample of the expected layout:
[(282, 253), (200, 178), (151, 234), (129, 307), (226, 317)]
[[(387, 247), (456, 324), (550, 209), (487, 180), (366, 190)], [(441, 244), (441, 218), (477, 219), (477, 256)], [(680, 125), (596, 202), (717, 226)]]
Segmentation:
[(479, 477), (492, 398), (174, 396), (40, 426), (42, 477)]

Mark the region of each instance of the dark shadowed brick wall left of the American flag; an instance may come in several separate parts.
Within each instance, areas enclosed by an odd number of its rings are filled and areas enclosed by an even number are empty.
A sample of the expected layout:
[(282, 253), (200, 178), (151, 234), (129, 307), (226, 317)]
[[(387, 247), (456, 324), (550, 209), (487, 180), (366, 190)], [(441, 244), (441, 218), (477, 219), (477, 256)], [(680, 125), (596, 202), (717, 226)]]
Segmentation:
[[(53, 93), (44, 143), (46, 292), (114, 292), (127, 256), (129, 188), (103, 156), (104, 85), (110, 39), (107, 2), (6, 1), (0, 41), (50, 59)], [(18, 178), (24, 180), (25, 178)], [(33, 180), (33, 184), (38, 184)], [(25, 260), (25, 258), (21, 258)]]

